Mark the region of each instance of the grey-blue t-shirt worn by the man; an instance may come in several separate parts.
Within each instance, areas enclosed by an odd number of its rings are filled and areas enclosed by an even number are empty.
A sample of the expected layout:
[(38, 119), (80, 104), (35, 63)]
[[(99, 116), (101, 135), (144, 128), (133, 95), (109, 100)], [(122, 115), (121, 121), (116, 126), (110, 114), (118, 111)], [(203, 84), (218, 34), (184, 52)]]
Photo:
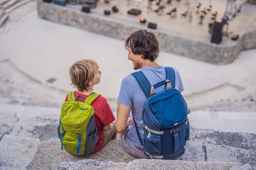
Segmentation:
[[(160, 67), (143, 67), (141, 68), (141, 71), (144, 73), (144, 75), (147, 77), (150, 85), (155, 85), (158, 82), (165, 80), (165, 69), (163, 66)], [(181, 78), (179, 76), (179, 72), (176, 68), (174, 68), (175, 71), (175, 88), (179, 91), (183, 91), (183, 85), (181, 82)], [(164, 89), (164, 85), (156, 88), (156, 93), (159, 91), (162, 91)], [(121, 83), (120, 92), (118, 96), (118, 102), (127, 105), (132, 106), (134, 119), (138, 126), (138, 131), (140, 133), (140, 136), (142, 137), (142, 112), (144, 110), (144, 102), (146, 101), (146, 96), (143, 93), (142, 89), (140, 88), (138, 82), (132, 75), (126, 76)], [(132, 116), (132, 113), (130, 113), (130, 116)], [(130, 117), (129, 116), (129, 117)], [(128, 138), (129, 141), (134, 145), (141, 147), (141, 144), (138, 139), (138, 135), (136, 133), (136, 128), (134, 125), (134, 121), (130, 124), (129, 132), (128, 132)]]

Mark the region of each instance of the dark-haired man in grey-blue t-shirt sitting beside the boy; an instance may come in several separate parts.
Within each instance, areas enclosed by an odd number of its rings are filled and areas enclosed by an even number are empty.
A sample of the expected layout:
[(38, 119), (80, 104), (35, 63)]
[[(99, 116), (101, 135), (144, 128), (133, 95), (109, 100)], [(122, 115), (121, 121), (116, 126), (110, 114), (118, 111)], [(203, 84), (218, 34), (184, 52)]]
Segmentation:
[[(165, 80), (165, 69), (163, 66), (158, 65), (156, 61), (159, 53), (159, 44), (153, 32), (147, 30), (133, 32), (126, 39), (125, 48), (129, 51), (128, 60), (133, 62), (134, 69), (138, 70), (141, 68), (150, 85), (155, 85)], [(176, 80), (175, 88), (181, 92), (183, 91), (181, 78), (178, 70), (176, 68), (174, 70)], [(156, 88), (156, 93), (163, 89), (164, 85)], [(135, 128), (136, 122), (139, 135), (142, 138), (142, 113), (146, 99), (145, 94), (132, 75), (128, 75), (122, 80), (118, 96), (117, 121), (115, 126), (117, 132), (120, 133), (120, 138), (125, 149), (138, 158), (147, 158), (141, 149), (142, 146)], [(135, 122), (133, 119), (135, 119)]]

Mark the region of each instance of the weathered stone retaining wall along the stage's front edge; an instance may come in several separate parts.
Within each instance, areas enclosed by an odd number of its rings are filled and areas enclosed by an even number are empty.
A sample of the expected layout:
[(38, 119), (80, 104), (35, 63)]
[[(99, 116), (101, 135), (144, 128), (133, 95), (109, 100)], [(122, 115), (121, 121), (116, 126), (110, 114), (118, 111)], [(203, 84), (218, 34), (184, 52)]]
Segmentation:
[[(93, 13), (83, 13), (80, 10), (53, 3), (45, 3), (42, 0), (38, 0), (38, 15), (46, 20), (121, 40), (125, 40), (133, 31), (146, 28), (139, 24), (127, 23)], [(256, 48), (256, 29), (246, 32), (232, 45), (200, 42), (161, 30), (154, 30), (154, 32), (157, 34), (161, 51), (213, 64), (232, 63), (240, 50)]]

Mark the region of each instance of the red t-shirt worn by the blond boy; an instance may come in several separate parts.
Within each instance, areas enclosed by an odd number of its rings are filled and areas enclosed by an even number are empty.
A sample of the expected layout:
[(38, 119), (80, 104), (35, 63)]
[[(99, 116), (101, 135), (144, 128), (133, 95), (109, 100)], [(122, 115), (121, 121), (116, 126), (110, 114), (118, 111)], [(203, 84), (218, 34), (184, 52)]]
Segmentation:
[[(75, 96), (81, 95), (84, 99), (88, 96), (79, 93), (79, 91), (75, 91)], [(65, 101), (67, 101), (67, 96)], [(77, 101), (82, 102), (82, 98), (78, 97)], [(108, 104), (108, 101), (103, 96), (99, 96), (95, 101), (92, 102), (92, 106), (95, 110), (95, 128), (98, 129), (98, 143), (94, 148), (94, 153), (98, 152), (103, 145), (104, 142), (104, 134), (102, 132), (102, 125), (107, 126), (111, 124), (114, 120), (114, 114)]]

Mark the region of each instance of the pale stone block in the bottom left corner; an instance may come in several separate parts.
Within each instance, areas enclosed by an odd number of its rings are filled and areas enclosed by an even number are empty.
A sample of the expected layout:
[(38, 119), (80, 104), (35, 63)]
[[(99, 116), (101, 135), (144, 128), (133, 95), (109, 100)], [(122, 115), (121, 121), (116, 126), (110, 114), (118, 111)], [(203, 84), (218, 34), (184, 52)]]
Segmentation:
[(40, 140), (21, 136), (3, 136), (0, 141), (2, 167), (25, 169), (37, 153)]

